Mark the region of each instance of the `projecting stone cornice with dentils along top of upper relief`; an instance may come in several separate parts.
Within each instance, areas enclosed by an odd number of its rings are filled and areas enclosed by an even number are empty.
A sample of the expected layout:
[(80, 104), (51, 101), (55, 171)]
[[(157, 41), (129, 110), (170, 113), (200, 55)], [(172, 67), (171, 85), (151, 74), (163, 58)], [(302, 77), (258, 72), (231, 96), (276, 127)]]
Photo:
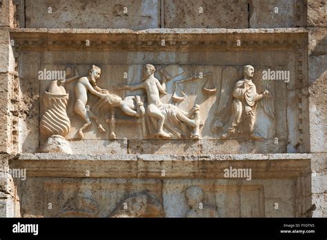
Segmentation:
[(292, 50), (306, 39), (307, 34), (304, 28), (10, 30), (14, 47), (33, 50)]

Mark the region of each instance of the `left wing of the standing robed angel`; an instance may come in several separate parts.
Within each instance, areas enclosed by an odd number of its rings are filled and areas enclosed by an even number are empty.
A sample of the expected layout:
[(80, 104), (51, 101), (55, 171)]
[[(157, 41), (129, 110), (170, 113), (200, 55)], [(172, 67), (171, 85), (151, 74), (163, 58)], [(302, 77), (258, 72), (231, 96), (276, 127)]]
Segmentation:
[(237, 69), (232, 66), (224, 68), (221, 76), (221, 91), (219, 96), (219, 105), (215, 112), (214, 129), (217, 130), (224, 126), (224, 121), (229, 114), (232, 101), (232, 88), (237, 80)]

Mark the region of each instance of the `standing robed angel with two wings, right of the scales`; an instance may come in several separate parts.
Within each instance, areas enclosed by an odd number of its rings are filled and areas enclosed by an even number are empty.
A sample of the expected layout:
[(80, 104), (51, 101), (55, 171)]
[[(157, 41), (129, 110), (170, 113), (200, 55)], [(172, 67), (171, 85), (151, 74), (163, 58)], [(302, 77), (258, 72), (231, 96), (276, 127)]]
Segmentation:
[(268, 116), (275, 119), (274, 85), (272, 81), (262, 79), (264, 71), (261, 69), (255, 74), (253, 66), (244, 66), (244, 78), (236, 81), (237, 69), (231, 66), (224, 69), (221, 97), (213, 122), (213, 129), (221, 132), (220, 139), (230, 139), (235, 134), (253, 140), (262, 139), (254, 133), (257, 103), (261, 104)]

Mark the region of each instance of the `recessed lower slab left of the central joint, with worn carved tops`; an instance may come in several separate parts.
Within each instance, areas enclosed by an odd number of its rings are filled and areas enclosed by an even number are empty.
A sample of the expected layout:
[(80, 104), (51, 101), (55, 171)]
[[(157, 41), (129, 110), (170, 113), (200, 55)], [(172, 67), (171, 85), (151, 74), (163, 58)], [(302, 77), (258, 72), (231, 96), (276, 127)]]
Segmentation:
[(44, 217), (163, 217), (160, 181), (134, 180), (46, 181), (40, 210)]

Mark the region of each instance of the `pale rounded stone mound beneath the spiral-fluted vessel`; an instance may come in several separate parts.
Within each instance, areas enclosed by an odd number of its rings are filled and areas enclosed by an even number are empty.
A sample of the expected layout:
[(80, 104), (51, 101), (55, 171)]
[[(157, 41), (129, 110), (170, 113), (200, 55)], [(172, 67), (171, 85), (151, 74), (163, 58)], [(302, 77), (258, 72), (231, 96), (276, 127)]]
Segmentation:
[(52, 135), (48, 138), (48, 141), (44, 143), (41, 152), (72, 154), (72, 148), (69, 141), (61, 135)]

